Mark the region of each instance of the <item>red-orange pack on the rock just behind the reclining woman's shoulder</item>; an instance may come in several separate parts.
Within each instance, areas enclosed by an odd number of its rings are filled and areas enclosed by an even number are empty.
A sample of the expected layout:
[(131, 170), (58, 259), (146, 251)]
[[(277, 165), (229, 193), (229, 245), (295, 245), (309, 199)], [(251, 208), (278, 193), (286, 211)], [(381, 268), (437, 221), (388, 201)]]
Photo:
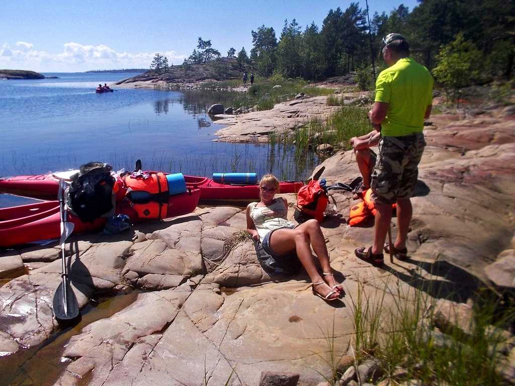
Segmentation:
[(327, 191), (320, 186), (320, 183), (311, 180), (303, 185), (297, 194), (297, 207), (295, 219), (300, 223), (310, 218), (322, 222), (323, 214), (329, 203)]

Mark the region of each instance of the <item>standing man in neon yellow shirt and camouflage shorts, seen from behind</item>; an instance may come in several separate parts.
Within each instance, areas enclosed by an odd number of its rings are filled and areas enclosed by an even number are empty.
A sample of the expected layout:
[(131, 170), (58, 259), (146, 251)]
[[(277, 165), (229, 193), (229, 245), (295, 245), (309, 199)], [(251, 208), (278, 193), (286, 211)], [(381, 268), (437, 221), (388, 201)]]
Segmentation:
[[(372, 173), (372, 198), (377, 213), (370, 248), (354, 252), (374, 265), (384, 262), (383, 249), (406, 258), (406, 238), (413, 214), (410, 197), (415, 191), (418, 164), (424, 151), (424, 118), (431, 115), (433, 77), (427, 68), (409, 57), (409, 45), (398, 33), (383, 38), (383, 58), (388, 68), (375, 82), (375, 102), (368, 117), (381, 125), (379, 157)], [(391, 205), (397, 203), (398, 233), (393, 245), (385, 239), (391, 221)]]

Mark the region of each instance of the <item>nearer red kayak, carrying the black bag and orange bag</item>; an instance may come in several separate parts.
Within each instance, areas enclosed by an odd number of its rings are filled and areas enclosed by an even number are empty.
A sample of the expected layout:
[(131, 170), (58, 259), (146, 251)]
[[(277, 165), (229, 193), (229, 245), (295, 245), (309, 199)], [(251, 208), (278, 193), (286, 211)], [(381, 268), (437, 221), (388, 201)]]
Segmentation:
[[(198, 205), (200, 190), (169, 196), (166, 217), (193, 212)], [(116, 213), (128, 215), (132, 221), (140, 220), (128, 201), (116, 204)], [(74, 223), (73, 233), (98, 231), (104, 227), (105, 218), (83, 222), (68, 213), (67, 221)], [(0, 248), (27, 242), (58, 239), (61, 235), (59, 201), (45, 201), (36, 204), (0, 208)]]

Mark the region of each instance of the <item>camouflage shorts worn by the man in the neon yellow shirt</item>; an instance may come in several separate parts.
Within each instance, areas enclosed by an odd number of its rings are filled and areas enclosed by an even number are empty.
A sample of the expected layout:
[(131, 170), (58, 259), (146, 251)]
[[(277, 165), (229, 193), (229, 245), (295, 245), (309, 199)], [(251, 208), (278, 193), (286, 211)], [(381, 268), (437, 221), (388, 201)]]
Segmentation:
[(422, 133), (381, 139), (379, 157), (372, 172), (374, 202), (392, 204), (398, 198), (413, 196), (424, 147)]

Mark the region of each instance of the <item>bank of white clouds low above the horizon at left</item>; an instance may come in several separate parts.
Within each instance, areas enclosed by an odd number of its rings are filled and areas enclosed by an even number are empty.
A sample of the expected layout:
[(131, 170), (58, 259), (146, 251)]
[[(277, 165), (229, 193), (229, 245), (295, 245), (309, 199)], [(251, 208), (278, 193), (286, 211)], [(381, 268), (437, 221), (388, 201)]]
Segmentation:
[[(90, 69), (148, 68), (155, 52), (118, 52), (104, 44), (65, 43), (59, 54), (33, 49), (33, 44), (7, 43), (0, 49), (0, 68), (31, 69), (39, 72), (80, 72)], [(164, 51), (169, 62), (180, 64), (185, 58), (175, 51)]]

